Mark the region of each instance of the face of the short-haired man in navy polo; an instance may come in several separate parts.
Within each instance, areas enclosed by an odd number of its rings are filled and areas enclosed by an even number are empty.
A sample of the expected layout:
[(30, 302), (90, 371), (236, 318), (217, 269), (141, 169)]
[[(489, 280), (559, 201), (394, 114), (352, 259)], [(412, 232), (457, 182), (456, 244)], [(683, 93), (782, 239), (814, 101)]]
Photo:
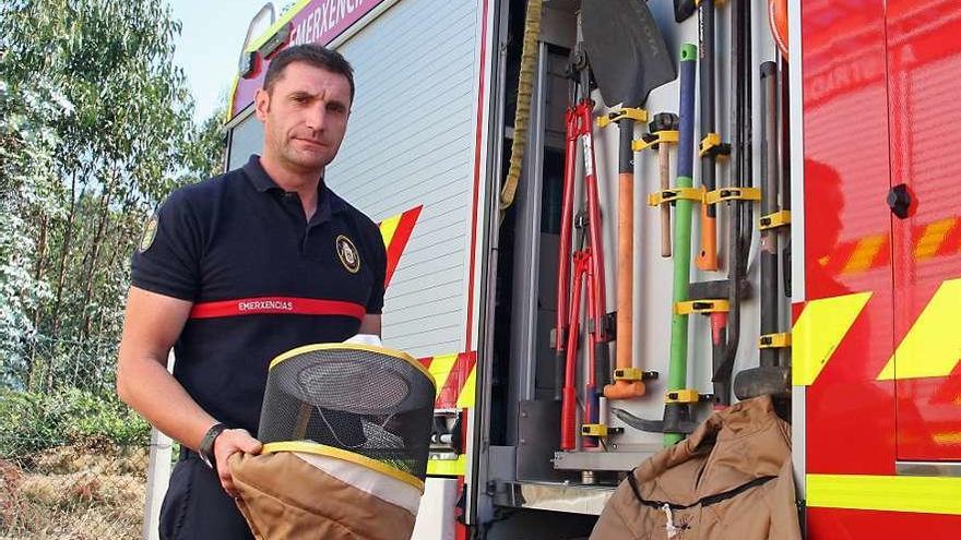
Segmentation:
[(344, 140), (351, 113), (347, 77), (304, 62), (293, 62), (270, 93), (256, 96), (264, 124), (264, 154), (298, 172), (322, 170)]

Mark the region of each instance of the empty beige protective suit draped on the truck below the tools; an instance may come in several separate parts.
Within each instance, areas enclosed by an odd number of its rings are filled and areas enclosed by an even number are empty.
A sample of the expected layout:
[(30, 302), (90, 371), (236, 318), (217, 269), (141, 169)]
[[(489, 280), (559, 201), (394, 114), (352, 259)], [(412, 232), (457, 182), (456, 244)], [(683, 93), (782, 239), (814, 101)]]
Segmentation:
[(800, 540), (791, 428), (767, 396), (713, 413), (632, 477), (637, 493), (618, 485), (591, 540)]

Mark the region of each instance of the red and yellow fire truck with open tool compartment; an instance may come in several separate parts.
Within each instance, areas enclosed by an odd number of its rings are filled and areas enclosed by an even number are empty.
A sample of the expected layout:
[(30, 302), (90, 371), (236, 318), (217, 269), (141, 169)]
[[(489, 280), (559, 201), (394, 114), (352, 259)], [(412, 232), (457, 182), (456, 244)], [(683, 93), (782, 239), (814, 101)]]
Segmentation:
[[(598, 3), (530, 3), (536, 32), (518, 0), (265, 7), (230, 95), (228, 169), (260, 151), (252, 98), (277, 50), (318, 43), (354, 65), (325, 181), (380, 223), (384, 344), (437, 381), (415, 538), (585, 538), (625, 472), (664, 447), (666, 409), (696, 423), (779, 384), (806, 538), (961, 538), (961, 5), (702, 0), (683, 16), (683, 2), (613, 2), (650, 15), (678, 75), (608, 104), (602, 65), (638, 58), (591, 49)], [(690, 111), (686, 69), (701, 81)], [(691, 185), (677, 183), (685, 160)], [(604, 382), (644, 393), (598, 398)]]

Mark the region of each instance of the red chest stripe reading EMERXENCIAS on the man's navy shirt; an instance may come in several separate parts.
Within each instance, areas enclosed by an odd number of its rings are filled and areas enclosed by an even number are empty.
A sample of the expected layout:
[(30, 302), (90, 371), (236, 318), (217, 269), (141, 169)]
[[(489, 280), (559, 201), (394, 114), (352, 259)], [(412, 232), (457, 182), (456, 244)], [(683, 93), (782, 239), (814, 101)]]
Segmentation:
[(258, 297), (220, 300), (193, 304), (190, 319), (214, 319), (240, 315), (344, 315), (358, 321), (367, 312), (364, 305), (340, 300), (316, 300), (296, 297)]

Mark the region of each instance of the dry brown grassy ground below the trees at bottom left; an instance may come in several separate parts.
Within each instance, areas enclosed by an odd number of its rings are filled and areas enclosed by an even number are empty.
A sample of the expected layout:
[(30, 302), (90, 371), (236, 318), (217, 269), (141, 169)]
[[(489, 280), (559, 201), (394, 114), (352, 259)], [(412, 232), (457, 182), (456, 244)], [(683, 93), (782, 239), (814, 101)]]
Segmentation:
[(147, 460), (104, 444), (0, 459), (0, 540), (140, 538)]

